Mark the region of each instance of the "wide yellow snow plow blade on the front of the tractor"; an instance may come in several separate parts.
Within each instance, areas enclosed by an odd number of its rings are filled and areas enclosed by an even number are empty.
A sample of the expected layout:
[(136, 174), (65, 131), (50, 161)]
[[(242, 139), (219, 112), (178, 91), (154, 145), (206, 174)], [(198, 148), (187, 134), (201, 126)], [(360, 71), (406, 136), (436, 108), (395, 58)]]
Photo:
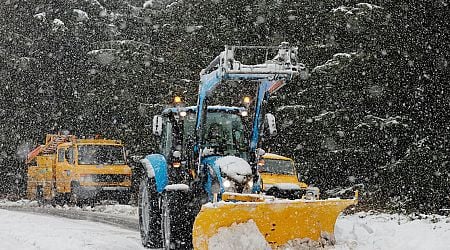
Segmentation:
[(357, 204), (354, 199), (273, 200), (252, 202), (218, 202), (203, 205), (193, 227), (194, 249), (208, 249), (208, 241), (219, 228), (253, 220), (272, 248), (290, 240), (320, 240), (333, 236), (338, 215)]

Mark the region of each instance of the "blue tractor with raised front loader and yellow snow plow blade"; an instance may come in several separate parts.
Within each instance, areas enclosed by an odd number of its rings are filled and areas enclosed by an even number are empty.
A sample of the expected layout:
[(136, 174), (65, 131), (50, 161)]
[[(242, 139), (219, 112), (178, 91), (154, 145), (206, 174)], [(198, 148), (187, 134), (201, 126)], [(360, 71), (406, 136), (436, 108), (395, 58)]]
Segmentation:
[[(266, 50), (262, 63), (244, 64), (237, 53)], [(270, 51), (270, 52), (269, 52)], [(226, 46), (200, 73), (196, 106), (179, 103), (153, 117), (159, 152), (141, 160), (138, 198), (144, 246), (208, 249), (220, 228), (254, 222), (273, 248), (299, 238), (330, 238), (339, 213), (357, 200), (280, 199), (261, 194), (261, 133), (275, 134), (275, 118), (263, 111), (270, 94), (304, 66), (296, 48)], [(269, 53), (273, 52), (271, 59)], [(257, 84), (252, 108), (211, 105), (220, 84)], [(178, 101), (177, 101), (178, 100)], [(249, 114), (251, 118), (248, 118)], [(250, 125), (245, 126), (246, 119)], [(247, 131), (248, 130), (248, 131)]]

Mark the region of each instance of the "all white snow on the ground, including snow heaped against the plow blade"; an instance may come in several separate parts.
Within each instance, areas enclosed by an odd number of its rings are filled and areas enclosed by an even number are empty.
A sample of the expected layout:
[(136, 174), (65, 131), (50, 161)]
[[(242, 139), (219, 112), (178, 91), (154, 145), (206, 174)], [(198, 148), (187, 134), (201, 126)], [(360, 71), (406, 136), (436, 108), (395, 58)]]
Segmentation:
[[(0, 207), (36, 205), (35, 202), (26, 200), (18, 202), (0, 200)], [(82, 210), (137, 220), (137, 209), (125, 205), (52, 209)], [(142, 249), (137, 231), (102, 223), (2, 209), (0, 222), (0, 249)], [(249, 223), (248, 226), (251, 227), (252, 224)], [(222, 230), (222, 235), (216, 235), (217, 237), (213, 239), (215, 247), (212, 249), (265, 248), (265, 242), (261, 242), (262, 236), (258, 237), (254, 231), (242, 225)], [(444, 250), (450, 249), (450, 217), (357, 213), (338, 219), (335, 236), (336, 245), (326, 246), (326, 249)], [(287, 245), (283, 249), (312, 249), (313, 246), (317, 245), (302, 242)]]

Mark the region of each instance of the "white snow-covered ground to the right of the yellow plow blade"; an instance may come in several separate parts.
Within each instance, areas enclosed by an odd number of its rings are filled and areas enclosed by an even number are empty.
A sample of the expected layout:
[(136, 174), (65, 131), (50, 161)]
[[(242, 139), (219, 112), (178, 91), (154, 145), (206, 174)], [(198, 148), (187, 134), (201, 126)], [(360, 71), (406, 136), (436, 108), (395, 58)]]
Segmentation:
[(341, 216), (336, 249), (434, 249), (450, 247), (450, 217), (357, 213)]

